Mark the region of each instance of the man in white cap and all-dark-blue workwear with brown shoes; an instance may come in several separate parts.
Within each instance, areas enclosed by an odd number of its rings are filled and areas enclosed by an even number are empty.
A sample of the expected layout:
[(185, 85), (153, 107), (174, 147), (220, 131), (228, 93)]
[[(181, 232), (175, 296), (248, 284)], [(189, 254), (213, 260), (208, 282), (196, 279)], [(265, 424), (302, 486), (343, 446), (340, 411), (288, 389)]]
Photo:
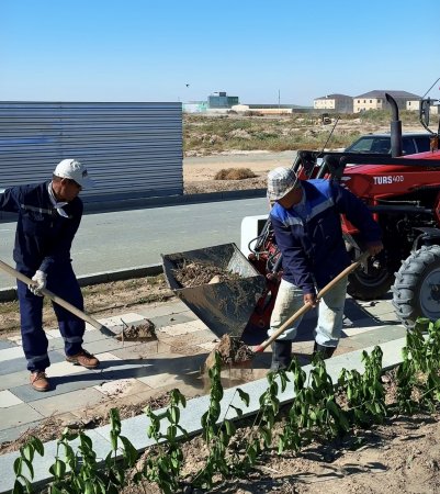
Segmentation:
[[(53, 179), (43, 183), (18, 186), (0, 194), (0, 210), (19, 213), (13, 259), (16, 270), (33, 280), (18, 280), (23, 350), (36, 391), (48, 391), (47, 337), (43, 329), (43, 296), (47, 288), (83, 311), (83, 299), (74, 273), (70, 247), (82, 216), (78, 194), (91, 187), (87, 168), (76, 159), (63, 159)], [(66, 360), (94, 369), (99, 360), (82, 348), (86, 324), (64, 307), (53, 304), (64, 338)]]

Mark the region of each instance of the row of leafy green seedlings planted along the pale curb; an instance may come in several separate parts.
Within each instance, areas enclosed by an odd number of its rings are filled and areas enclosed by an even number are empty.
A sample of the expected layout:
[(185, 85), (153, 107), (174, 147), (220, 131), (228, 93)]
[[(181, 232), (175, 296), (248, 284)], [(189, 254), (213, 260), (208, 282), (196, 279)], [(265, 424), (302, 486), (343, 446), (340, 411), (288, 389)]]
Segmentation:
[[(407, 334), (403, 361), (393, 370), (396, 398), (391, 404), (385, 403), (386, 383), (381, 379), (382, 355), (380, 347), (370, 355), (363, 351), (364, 372), (343, 369), (336, 383), (319, 357), (314, 359), (308, 375), (294, 359), (290, 372), (268, 373), (267, 390), (259, 397), (259, 413), (250, 424), (248, 417), (244, 428), (237, 428), (226, 418), (232, 408), (238, 419), (244, 416), (250, 396), (242, 390), (236, 389), (234, 397), (238, 395), (245, 412), (232, 404), (233, 397), (221, 416), (224, 393), (217, 356), (216, 364), (210, 369), (210, 404), (201, 424), (206, 454), (198, 462), (198, 471), (184, 473), (188, 460), (184, 446), (189, 437), (180, 425), (180, 413), (187, 401), (173, 390), (163, 412), (145, 409), (150, 420), (146, 434), (156, 441), (146, 459), (139, 461), (136, 449), (121, 435), (119, 413), (112, 409), (111, 451), (104, 461), (97, 458), (86, 434), (66, 429), (57, 441), (57, 453), (49, 469), (53, 480), (45, 492), (112, 494), (121, 492), (128, 483), (137, 483), (139, 492), (146, 492), (142, 487), (145, 482), (156, 483), (167, 494), (191, 486), (211, 489), (225, 479), (244, 475), (269, 450), (277, 450), (279, 454), (300, 453), (314, 438), (330, 440), (350, 434), (353, 428), (383, 423), (395, 414), (435, 411), (440, 401), (440, 321), (419, 319), (415, 329)], [(291, 385), (295, 397), (281, 406), (280, 391)], [(282, 427), (274, 427), (280, 422)], [(237, 448), (237, 438), (240, 448)], [(79, 444), (76, 450), (71, 446), (74, 440)], [(14, 463), (14, 494), (36, 492), (32, 485), (35, 453), (43, 456), (44, 446), (33, 437), (20, 449)]]

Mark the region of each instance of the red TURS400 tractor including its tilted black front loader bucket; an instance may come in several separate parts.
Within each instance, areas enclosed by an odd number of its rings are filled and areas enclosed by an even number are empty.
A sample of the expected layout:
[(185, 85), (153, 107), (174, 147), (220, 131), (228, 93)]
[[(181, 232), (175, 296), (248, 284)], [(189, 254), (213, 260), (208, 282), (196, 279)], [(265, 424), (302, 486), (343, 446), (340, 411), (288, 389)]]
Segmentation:
[[(417, 317), (440, 318), (440, 125), (430, 131), (433, 101), (422, 100), (420, 122), (432, 136), (431, 150), (403, 156), (397, 104), (387, 99), (393, 110), (391, 156), (300, 150), (293, 167), (302, 179), (338, 180), (368, 204), (381, 225), (385, 248), (349, 277), (348, 292), (373, 300), (392, 289), (397, 315), (411, 328)], [(358, 231), (341, 221), (347, 249), (356, 259), (364, 246)], [(244, 220), (241, 251), (226, 244), (162, 257), (170, 288), (218, 337), (228, 333), (250, 344), (266, 339), (282, 267), (267, 216)], [(184, 288), (173, 274), (184, 261), (215, 265), (239, 278)]]

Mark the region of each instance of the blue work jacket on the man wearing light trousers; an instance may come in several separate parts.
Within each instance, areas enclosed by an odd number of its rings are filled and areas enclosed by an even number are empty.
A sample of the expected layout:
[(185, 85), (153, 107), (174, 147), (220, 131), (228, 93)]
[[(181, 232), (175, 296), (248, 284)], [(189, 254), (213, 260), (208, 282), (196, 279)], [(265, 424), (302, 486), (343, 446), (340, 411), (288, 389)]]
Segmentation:
[(275, 203), (270, 213), (277, 244), (282, 254), (283, 278), (303, 293), (315, 293), (347, 266), (350, 258), (342, 237), (340, 214), (359, 231), (361, 239), (381, 239), (381, 229), (365, 204), (337, 182), (302, 181), (303, 214)]

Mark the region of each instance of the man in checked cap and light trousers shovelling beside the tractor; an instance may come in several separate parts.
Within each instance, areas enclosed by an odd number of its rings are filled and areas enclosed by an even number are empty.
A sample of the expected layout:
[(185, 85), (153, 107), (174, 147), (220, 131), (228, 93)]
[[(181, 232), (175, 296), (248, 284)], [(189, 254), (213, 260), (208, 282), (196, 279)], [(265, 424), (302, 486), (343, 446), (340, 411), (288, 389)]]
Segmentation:
[[(340, 214), (360, 232), (371, 256), (382, 249), (381, 229), (365, 204), (336, 181), (298, 180), (294, 170), (275, 168), (268, 175), (270, 220), (282, 255), (283, 273), (271, 314), (271, 336), (303, 304), (316, 306), (317, 291), (350, 265)], [(329, 358), (342, 330), (347, 279), (338, 282), (319, 302), (314, 351)], [(272, 345), (271, 370), (291, 363), (292, 340), (301, 317)]]

